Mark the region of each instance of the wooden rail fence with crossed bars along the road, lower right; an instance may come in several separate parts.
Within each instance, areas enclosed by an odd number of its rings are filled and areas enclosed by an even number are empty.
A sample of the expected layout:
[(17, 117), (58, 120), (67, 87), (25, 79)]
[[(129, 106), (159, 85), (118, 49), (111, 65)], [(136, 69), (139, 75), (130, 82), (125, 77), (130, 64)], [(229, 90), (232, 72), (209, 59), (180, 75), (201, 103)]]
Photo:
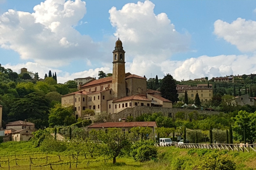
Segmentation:
[(170, 147), (175, 146), (176, 148), (185, 148), (185, 149), (219, 149), (228, 150), (228, 151), (237, 151), (237, 152), (256, 152), (256, 143), (253, 144), (221, 144), (221, 143), (177, 143), (172, 142), (172, 144), (168, 143), (155, 143), (156, 147)]

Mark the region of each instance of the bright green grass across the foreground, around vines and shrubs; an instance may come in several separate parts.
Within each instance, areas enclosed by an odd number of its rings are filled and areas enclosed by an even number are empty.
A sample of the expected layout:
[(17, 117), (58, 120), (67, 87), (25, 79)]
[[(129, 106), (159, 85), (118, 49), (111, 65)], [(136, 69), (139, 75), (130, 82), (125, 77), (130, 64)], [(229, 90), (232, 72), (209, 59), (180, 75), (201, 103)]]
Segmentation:
[[(11, 170), (29, 170), (29, 156), (28, 155), (20, 155), (16, 156), (18, 160), (14, 161), (15, 156), (7, 158), (7, 155), (14, 154), (26, 154), (30, 153), (33, 159), (34, 166), (36, 164), (46, 164), (46, 162), (57, 162), (59, 157), (57, 157), (58, 153), (49, 153), (48, 161), (45, 159), (45, 153), (35, 154), (40, 151), (39, 148), (34, 148), (30, 142), (6, 142), (0, 144), (0, 161), (1, 160), (12, 160), (10, 161), (10, 169)], [(188, 149), (180, 149), (174, 147), (164, 147), (158, 148), (158, 159), (153, 161), (148, 161), (145, 163), (135, 162), (130, 157), (122, 157), (117, 158), (117, 163), (113, 165), (112, 160), (108, 160), (105, 164), (104, 161), (101, 162), (91, 162), (89, 166), (86, 165), (87, 161), (83, 156), (79, 157), (80, 161), (84, 161), (83, 163), (79, 163), (77, 168), (75, 168), (75, 163), (72, 163), (72, 169), (90, 169), (90, 170), (196, 170), (203, 159), (202, 154), (205, 152), (210, 152), (209, 150), (188, 150)], [(32, 153), (34, 153), (32, 155)], [(65, 153), (60, 153), (60, 155), (64, 155)], [(205, 153), (207, 154), (207, 153)], [(227, 157), (233, 160), (236, 163), (237, 170), (254, 170), (256, 169), (256, 153), (238, 153), (238, 152), (228, 152), (226, 153)], [(3, 155), (5, 155), (3, 157)], [(52, 157), (55, 156), (55, 157)], [(71, 158), (72, 159), (72, 158)], [(61, 160), (64, 162), (68, 162), (70, 158), (61, 157)], [(94, 161), (94, 159), (91, 159)], [(1, 166), (3, 170), (8, 170), (8, 162), (1, 162)], [(69, 169), (70, 165), (67, 163), (66, 165), (52, 165), (52, 169), (54, 170), (65, 170)], [(45, 167), (33, 167), (32, 170), (49, 170), (50, 166)]]

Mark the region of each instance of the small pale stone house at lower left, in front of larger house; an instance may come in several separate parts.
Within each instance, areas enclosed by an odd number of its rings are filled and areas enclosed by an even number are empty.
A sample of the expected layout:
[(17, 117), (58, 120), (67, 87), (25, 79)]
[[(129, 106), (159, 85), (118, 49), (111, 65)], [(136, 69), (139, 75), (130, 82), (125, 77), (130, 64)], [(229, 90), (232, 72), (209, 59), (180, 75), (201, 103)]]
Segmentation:
[(30, 138), (33, 137), (33, 134), (31, 134), (32, 131), (29, 129), (21, 129), (17, 130), (15, 132), (12, 132), (11, 139), (12, 141), (28, 141)]

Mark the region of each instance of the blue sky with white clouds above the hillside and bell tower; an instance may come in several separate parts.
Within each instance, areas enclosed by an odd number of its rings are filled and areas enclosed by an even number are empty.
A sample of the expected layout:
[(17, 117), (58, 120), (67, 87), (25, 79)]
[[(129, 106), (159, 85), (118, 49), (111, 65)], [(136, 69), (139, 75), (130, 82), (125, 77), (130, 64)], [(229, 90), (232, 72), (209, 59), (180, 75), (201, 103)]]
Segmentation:
[(0, 63), (59, 83), (112, 72), (176, 80), (256, 73), (253, 0), (0, 0)]

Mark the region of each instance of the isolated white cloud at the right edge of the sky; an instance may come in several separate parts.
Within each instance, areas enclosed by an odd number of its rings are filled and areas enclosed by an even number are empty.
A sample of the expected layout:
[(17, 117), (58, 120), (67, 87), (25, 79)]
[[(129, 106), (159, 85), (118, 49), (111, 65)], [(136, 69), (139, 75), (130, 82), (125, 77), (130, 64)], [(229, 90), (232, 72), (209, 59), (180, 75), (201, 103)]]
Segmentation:
[(237, 18), (228, 23), (217, 20), (214, 22), (214, 33), (235, 45), (240, 51), (256, 51), (256, 21)]

